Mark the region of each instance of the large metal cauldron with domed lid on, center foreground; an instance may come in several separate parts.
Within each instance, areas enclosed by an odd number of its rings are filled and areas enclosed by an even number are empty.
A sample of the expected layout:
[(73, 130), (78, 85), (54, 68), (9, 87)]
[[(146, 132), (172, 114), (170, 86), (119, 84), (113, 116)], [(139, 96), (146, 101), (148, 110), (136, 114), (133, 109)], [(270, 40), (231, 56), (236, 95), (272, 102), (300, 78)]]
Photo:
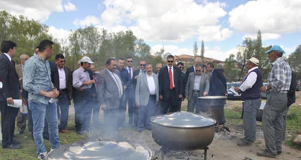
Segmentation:
[(214, 138), (216, 121), (191, 112), (151, 117), (152, 136), (157, 144), (172, 150), (204, 149)]

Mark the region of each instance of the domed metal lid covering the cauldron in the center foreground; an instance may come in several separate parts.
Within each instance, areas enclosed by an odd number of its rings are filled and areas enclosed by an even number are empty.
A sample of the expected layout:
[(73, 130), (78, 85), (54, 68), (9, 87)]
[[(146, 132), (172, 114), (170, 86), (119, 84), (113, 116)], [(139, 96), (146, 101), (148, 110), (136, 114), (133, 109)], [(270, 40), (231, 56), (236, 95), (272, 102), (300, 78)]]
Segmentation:
[(151, 118), (152, 123), (178, 128), (207, 127), (216, 123), (212, 118), (191, 112), (173, 112)]

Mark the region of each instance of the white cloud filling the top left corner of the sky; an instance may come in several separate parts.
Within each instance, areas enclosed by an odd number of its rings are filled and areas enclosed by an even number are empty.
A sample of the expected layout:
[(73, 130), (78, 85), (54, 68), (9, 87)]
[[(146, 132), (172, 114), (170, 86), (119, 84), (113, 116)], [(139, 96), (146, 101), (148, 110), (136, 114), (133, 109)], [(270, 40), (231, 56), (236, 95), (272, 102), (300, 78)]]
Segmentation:
[(62, 0), (1, 0), (0, 10), (39, 21), (47, 20), (52, 12), (64, 11)]

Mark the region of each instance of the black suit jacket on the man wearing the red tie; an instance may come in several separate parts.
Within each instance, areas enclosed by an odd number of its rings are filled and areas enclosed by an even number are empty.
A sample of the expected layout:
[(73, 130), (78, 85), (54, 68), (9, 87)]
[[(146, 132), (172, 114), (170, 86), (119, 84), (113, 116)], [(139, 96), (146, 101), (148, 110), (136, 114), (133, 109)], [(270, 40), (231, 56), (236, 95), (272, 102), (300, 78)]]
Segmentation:
[[(184, 95), (182, 72), (180, 68), (173, 66), (173, 83), (175, 84), (176, 95)], [(160, 69), (159, 74), (159, 95), (163, 96), (163, 101), (169, 99), (170, 91), (169, 68), (165, 66)]]

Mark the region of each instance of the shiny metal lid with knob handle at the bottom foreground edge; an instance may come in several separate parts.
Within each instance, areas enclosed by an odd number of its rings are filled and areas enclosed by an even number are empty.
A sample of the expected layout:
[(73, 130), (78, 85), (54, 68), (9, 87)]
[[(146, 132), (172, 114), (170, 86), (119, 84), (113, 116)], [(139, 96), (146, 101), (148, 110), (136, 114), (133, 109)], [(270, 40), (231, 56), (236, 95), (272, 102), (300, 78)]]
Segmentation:
[(153, 151), (140, 143), (102, 140), (102, 145), (100, 145), (99, 140), (82, 140), (54, 149), (49, 152), (46, 160), (150, 160), (153, 156)]

